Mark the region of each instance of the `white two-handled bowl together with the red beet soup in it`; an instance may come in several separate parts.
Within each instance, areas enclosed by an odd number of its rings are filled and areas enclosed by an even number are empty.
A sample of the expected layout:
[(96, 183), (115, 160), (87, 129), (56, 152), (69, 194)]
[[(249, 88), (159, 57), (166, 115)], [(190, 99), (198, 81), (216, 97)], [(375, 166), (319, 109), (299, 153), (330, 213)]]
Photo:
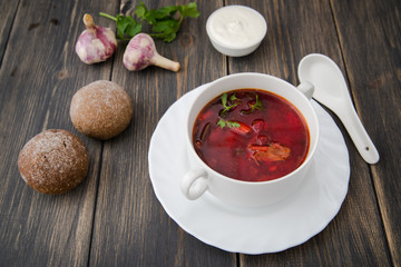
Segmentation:
[[(190, 169), (180, 188), (206, 190), (243, 207), (265, 206), (302, 184), (319, 141), (312, 85), (243, 72), (211, 82), (190, 106), (186, 147)], [(307, 97), (306, 97), (307, 96)]]

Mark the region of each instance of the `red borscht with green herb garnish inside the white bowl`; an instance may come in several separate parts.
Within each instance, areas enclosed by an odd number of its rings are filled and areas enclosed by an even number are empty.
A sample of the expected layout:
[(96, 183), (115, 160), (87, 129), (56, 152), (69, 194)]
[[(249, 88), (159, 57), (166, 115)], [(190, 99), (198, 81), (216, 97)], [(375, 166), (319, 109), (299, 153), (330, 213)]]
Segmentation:
[(193, 145), (222, 175), (267, 181), (292, 172), (305, 160), (310, 134), (301, 112), (284, 98), (239, 89), (203, 108), (194, 123)]

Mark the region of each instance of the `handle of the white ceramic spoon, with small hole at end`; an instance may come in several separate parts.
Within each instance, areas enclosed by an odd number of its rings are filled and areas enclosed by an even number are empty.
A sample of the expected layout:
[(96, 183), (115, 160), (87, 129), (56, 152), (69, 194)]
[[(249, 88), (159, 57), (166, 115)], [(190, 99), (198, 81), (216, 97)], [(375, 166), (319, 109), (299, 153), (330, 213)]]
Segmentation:
[(352, 141), (358, 151), (368, 164), (375, 164), (379, 161), (379, 152), (363, 127), (353, 105), (343, 105), (338, 110), (339, 118), (346, 128)]

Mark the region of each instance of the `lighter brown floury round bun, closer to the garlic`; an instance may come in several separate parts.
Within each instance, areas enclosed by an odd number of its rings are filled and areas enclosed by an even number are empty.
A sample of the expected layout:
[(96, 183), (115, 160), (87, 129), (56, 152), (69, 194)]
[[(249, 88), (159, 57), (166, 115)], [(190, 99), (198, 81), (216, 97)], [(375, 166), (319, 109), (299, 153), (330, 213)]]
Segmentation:
[(70, 117), (81, 134), (107, 140), (127, 128), (133, 111), (133, 101), (123, 87), (108, 80), (98, 80), (74, 95)]

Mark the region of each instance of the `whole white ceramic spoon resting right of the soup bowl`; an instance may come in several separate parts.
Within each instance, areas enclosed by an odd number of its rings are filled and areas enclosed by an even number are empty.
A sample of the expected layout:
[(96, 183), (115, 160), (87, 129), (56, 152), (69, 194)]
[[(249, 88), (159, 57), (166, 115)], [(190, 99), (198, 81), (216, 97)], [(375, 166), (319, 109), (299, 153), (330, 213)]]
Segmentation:
[(353, 107), (344, 77), (336, 63), (320, 53), (304, 57), (299, 65), (299, 78), (314, 86), (313, 98), (331, 109), (343, 122), (362, 158), (379, 161), (379, 152)]

